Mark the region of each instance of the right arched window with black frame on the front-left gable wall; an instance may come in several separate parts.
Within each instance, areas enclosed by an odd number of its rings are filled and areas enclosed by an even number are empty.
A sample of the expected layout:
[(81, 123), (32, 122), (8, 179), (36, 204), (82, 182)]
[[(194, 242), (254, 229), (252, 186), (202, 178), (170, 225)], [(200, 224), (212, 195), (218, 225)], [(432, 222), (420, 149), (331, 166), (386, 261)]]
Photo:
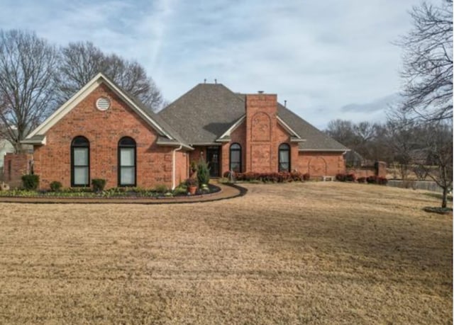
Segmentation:
[(131, 137), (118, 142), (118, 186), (135, 186), (135, 141)]

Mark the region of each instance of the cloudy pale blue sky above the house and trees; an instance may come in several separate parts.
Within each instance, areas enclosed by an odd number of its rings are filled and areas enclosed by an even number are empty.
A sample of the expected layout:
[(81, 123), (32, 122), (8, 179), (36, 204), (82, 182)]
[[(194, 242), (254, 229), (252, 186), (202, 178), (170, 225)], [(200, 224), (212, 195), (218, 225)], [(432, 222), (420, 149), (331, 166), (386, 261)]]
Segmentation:
[[(384, 120), (402, 84), (402, 51), (419, 0), (1, 0), (1, 28), (57, 45), (89, 40), (143, 64), (168, 101), (196, 84), (277, 93), (317, 127)], [(344, 106), (350, 108), (345, 109)], [(375, 107), (375, 110), (370, 107)]]

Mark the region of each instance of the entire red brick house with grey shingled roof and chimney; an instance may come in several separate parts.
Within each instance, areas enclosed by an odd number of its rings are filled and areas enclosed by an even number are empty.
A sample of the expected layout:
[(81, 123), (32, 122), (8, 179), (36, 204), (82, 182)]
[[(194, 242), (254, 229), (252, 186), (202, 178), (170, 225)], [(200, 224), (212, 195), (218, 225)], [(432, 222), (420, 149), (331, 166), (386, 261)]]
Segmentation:
[(98, 74), (31, 132), (33, 169), (40, 188), (165, 184), (188, 177), (203, 158), (211, 176), (234, 171), (345, 171), (348, 150), (292, 111), (277, 96), (233, 93), (222, 84), (199, 84), (156, 114)]

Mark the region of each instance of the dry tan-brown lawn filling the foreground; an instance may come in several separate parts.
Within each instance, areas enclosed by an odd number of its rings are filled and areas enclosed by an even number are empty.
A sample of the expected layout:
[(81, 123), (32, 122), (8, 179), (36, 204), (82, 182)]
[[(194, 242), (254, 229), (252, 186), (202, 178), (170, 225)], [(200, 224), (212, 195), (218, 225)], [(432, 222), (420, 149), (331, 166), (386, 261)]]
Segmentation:
[(452, 324), (453, 219), (367, 184), (1, 204), (1, 324)]

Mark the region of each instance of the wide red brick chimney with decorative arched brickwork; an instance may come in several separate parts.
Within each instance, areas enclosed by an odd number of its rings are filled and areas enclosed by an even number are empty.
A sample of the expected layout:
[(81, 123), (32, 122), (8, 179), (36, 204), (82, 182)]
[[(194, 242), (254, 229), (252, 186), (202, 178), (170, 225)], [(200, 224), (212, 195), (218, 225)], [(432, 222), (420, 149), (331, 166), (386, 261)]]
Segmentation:
[(277, 95), (246, 95), (246, 171), (277, 171)]

